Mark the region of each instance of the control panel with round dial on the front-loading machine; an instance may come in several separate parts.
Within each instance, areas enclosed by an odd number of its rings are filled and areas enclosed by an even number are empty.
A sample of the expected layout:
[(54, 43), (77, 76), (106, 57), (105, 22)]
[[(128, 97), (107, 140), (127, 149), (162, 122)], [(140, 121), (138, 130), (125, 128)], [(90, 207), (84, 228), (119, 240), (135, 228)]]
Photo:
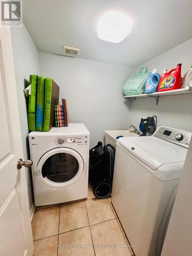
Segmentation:
[(54, 144), (56, 145), (69, 145), (69, 144), (76, 144), (76, 145), (87, 145), (88, 144), (88, 136), (75, 136), (75, 137), (62, 137), (57, 136), (54, 138)]

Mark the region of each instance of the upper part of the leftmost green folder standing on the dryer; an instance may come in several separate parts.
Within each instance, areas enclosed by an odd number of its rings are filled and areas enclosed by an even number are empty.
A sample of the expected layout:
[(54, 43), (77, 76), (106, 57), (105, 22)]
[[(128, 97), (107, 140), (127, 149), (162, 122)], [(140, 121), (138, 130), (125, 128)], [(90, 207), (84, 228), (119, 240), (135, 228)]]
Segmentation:
[(29, 84), (31, 84), (31, 94), (29, 95), (29, 101), (28, 101), (28, 113), (35, 113), (37, 75), (29, 76)]

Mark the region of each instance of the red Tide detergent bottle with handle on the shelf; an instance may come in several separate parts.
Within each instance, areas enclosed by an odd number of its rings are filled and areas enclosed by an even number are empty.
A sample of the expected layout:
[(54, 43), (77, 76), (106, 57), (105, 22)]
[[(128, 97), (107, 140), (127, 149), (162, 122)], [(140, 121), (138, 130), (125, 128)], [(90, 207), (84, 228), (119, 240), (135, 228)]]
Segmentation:
[[(176, 90), (181, 88), (181, 63), (177, 65), (176, 69), (170, 70), (163, 79), (161, 79), (158, 92), (169, 91), (169, 90)], [(174, 72), (174, 73), (172, 73)]]

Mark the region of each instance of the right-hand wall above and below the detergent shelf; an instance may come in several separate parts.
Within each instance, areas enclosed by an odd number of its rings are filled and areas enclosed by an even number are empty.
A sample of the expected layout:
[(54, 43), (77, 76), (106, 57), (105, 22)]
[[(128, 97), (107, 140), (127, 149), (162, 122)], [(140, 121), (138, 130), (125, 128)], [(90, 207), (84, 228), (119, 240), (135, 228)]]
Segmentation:
[[(157, 68), (158, 72), (162, 73), (164, 68), (170, 70), (175, 68), (177, 63), (182, 63), (182, 75), (184, 75), (192, 63), (192, 39), (142, 65), (147, 66), (149, 71)], [(157, 106), (154, 98), (138, 98), (137, 100), (128, 98), (126, 100), (131, 101), (129, 123), (139, 125), (141, 117), (156, 115), (158, 126), (166, 125), (192, 131), (192, 94), (159, 97)]]

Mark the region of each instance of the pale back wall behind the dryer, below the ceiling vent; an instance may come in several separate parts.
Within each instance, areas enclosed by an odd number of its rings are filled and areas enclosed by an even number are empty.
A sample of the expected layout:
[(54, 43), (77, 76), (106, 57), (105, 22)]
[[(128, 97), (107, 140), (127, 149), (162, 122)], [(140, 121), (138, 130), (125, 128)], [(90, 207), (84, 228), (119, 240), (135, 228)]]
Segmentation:
[(122, 86), (133, 69), (81, 58), (40, 52), (40, 74), (52, 77), (67, 98), (70, 122), (84, 123), (91, 146), (103, 139), (104, 130), (127, 129), (129, 102)]

